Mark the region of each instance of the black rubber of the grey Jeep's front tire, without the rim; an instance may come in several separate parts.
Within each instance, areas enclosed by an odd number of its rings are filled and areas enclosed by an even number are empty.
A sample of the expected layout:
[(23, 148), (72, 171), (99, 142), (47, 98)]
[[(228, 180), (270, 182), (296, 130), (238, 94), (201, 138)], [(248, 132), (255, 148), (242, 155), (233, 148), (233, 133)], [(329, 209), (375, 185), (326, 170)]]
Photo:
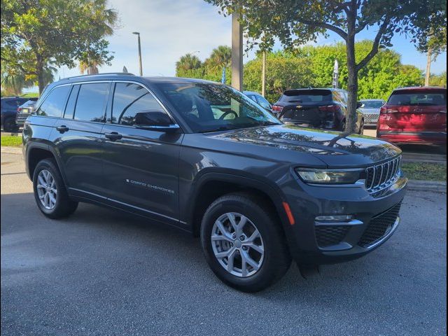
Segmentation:
[[(215, 256), (211, 242), (212, 231), (215, 221), (227, 213), (246, 216), (260, 232), (264, 245), (264, 257), (255, 274), (246, 277), (231, 274)], [(216, 276), (228, 286), (244, 292), (258, 292), (271, 286), (281, 279), (291, 263), (278, 216), (269, 209), (269, 205), (249, 193), (224, 195), (209, 206), (202, 218), (201, 243), (205, 258)]]

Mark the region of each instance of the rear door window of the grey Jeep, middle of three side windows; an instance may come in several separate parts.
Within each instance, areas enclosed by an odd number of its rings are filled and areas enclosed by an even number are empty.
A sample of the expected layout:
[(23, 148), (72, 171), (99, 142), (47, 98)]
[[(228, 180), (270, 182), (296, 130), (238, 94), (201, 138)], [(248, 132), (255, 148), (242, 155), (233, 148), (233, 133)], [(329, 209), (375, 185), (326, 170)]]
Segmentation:
[(74, 119), (104, 121), (107, 98), (109, 97), (110, 83), (87, 83), (82, 84), (76, 100)]

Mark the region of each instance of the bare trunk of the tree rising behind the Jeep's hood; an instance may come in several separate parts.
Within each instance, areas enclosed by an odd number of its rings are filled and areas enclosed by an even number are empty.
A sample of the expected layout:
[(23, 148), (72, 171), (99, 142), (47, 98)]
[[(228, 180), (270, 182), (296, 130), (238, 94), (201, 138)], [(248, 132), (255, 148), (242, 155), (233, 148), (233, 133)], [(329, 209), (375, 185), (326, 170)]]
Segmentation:
[(356, 120), (358, 119), (356, 113), (356, 106), (358, 105), (358, 71), (356, 70), (355, 59), (355, 38), (348, 36), (346, 41), (347, 48), (347, 91), (349, 97), (347, 99), (347, 116), (345, 123), (345, 132), (353, 133), (356, 129)]

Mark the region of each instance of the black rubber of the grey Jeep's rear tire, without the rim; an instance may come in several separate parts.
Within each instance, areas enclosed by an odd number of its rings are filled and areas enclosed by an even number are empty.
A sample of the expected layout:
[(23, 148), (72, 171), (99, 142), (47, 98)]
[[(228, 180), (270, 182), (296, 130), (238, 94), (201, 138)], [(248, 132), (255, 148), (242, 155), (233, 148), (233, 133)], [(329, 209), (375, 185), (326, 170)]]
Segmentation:
[[(57, 190), (57, 194), (55, 197), (55, 206), (52, 209), (46, 209), (41, 202), (38, 195), (38, 176), (41, 172), (48, 171), (50, 172), (52, 178), (55, 181), (55, 189)], [(73, 212), (78, 207), (78, 202), (73, 202), (70, 200), (69, 195), (67, 194), (64, 181), (62, 181), (62, 176), (57, 168), (56, 162), (52, 159), (45, 159), (38, 162), (36, 165), (36, 169), (34, 169), (33, 174), (33, 190), (34, 190), (34, 199), (36, 200), (36, 204), (38, 208), (42, 211), (42, 213), (48, 218), (64, 218), (73, 214)]]

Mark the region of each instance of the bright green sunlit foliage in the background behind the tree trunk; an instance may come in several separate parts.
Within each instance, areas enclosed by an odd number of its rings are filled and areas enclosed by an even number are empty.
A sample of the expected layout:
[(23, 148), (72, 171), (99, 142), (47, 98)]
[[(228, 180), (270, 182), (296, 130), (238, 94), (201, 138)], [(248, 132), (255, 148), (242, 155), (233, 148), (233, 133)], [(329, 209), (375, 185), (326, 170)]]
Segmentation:
[[(356, 59), (362, 59), (372, 48), (372, 41), (356, 43)], [(276, 102), (280, 94), (291, 88), (331, 87), (335, 59), (339, 62), (339, 87), (347, 88), (346, 45), (306, 45), (294, 52), (270, 52), (266, 61), (266, 98)], [(358, 96), (360, 99), (386, 99), (392, 90), (400, 86), (422, 85), (421, 70), (403, 65), (400, 54), (393, 50), (381, 50), (359, 73)], [(246, 90), (261, 90), (261, 58), (244, 66)]]

